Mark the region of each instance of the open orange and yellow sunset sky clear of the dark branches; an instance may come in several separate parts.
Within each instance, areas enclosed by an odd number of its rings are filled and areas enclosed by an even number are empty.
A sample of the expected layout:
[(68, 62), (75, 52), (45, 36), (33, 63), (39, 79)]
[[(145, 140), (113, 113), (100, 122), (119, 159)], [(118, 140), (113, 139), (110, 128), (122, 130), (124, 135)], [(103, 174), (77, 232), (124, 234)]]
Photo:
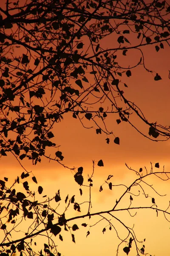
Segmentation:
[[(4, 3), (6, 0), (3, 0)], [(102, 42), (104, 48), (109, 48), (112, 42)], [(154, 81), (155, 73), (148, 73), (142, 66), (138, 66), (132, 70), (132, 76), (122, 76), (122, 81), (125, 82), (128, 87), (123, 88), (125, 96), (130, 99), (131, 102), (135, 102), (136, 105), (143, 111), (144, 115), (150, 122), (158, 122), (161, 125), (170, 125), (170, 48), (167, 44), (164, 44), (164, 49), (160, 49), (156, 52), (154, 46), (146, 46), (142, 48), (144, 52), (145, 66), (159, 73), (161, 76), (160, 81)], [(138, 59), (138, 53), (136, 51), (127, 52), (127, 56), (122, 56), (122, 53), (118, 56), (119, 64), (133, 64)], [(90, 79), (90, 75), (87, 78)], [(103, 105), (102, 105), (103, 106)], [(105, 106), (106, 107), (106, 106)], [(103, 186), (103, 191), (99, 192), (99, 187), (105, 183), (108, 175), (113, 175), (111, 182), (113, 184), (126, 184), (129, 185), (134, 179), (136, 174), (130, 171), (125, 166), (127, 163), (132, 169), (139, 171), (139, 168), (150, 169), (150, 162), (159, 162), (160, 170), (170, 170), (170, 141), (153, 142), (142, 135), (140, 135), (133, 127), (127, 122), (121, 122), (119, 125), (116, 123), (116, 114), (108, 115), (106, 124), (109, 130), (112, 130), (116, 137), (120, 138), (120, 145), (113, 143), (114, 137), (110, 137), (110, 143), (106, 143), (105, 134), (96, 134), (96, 129), (85, 129), (82, 127), (78, 119), (74, 119), (72, 114), (66, 113), (62, 122), (54, 125), (53, 133), (55, 135), (52, 140), (57, 145), (60, 145), (59, 150), (62, 151), (64, 156), (63, 163), (65, 166), (71, 168), (78, 168), (82, 166), (84, 168), (83, 177), (85, 184), (88, 184), (88, 175), (90, 176), (93, 171), (92, 160), (95, 161), (95, 171), (92, 187), (92, 212), (111, 209), (111, 206), (115, 204), (116, 199), (119, 199), (120, 193), (123, 191), (119, 187), (113, 187), (112, 191), (108, 188), (107, 184)], [(149, 128), (142, 123), (141, 120), (135, 115), (130, 116), (130, 120), (133, 120), (135, 125), (140, 128), (142, 132), (148, 134)], [(86, 120), (87, 126), (92, 126), (91, 121)], [(49, 154), (51, 153), (48, 149)], [(102, 159), (104, 167), (97, 166), (98, 161)], [(31, 161), (22, 160), (22, 165), (27, 171), (32, 171), (37, 178), (38, 185), (42, 186), (44, 191), (43, 195), (53, 196), (60, 189), (61, 198), (63, 201), (69, 194), (70, 198), (76, 195), (76, 201), (82, 203), (88, 201), (88, 188), (82, 186), (83, 195), (79, 195), (80, 186), (74, 181), (74, 172), (69, 169), (65, 169), (57, 162), (49, 162), (47, 159), (42, 159), (41, 163), (37, 163), (36, 166), (31, 164)], [(1, 179), (8, 177), (12, 182), (14, 178), (19, 176), (23, 172), (23, 168), (20, 166), (14, 156), (8, 155), (8, 157), (0, 158), (1, 166)], [(155, 197), (156, 204), (159, 208), (166, 209), (170, 200), (170, 181), (163, 182), (159, 179), (150, 179), (150, 184), (154, 184), (156, 190), (160, 194), (167, 194), (166, 197)], [(36, 189), (36, 185), (30, 179), (30, 187), (32, 185), (33, 190)], [(137, 189), (138, 191), (138, 189)], [(136, 192), (137, 193), (137, 192)], [(148, 193), (151, 197), (153, 194), (150, 189)], [(140, 198), (140, 200), (139, 200)], [(144, 196), (134, 197), (134, 205), (144, 205), (146, 201), (151, 200), (147, 198), (144, 200)], [(123, 205), (129, 205), (129, 202), (124, 202)], [(146, 203), (148, 205), (148, 202)], [(82, 212), (76, 212), (73, 209), (66, 212), (67, 218), (81, 215), (83, 212), (87, 212), (88, 204), (80, 205)], [(63, 207), (63, 208), (62, 208)], [(61, 203), (59, 209), (64, 209), (65, 205)], [(87, 208), (86, 208), (87, 207)], [(73, 208), (73, 207), (72, 207)], [(135, 212), (133, 212), (135, 213)], [(115, 214), (116, 216), (116, 214)], [(170, 223), (165, 220), (163, 214), (159, 214), (156, 217), (156, 212), (152, 210), (140, 209), (137, 211), (135, 217), (130, 217), (127, 212), (119, 213), (122, 220), (129, 227), (133, 227), (135, 224), (137, 239), (144, 242), (145, 252), (150, 253), (152, 256), (168, 256), (170, 252), (169, 237), (170, 237)], [(110, 216), (111, 217), (111, 216)], [(108, 217), (108, 218), (110, 218)], [(94, 227), (82, 227), (82, 223), (94, 225), (99, 221), (99, 216), (76, 220), (79, 230), (74, 232), (76, 243), (71, 240), (71, 234), (62, 231), (63, 241), (60, 241), (56, 237), (56, 243), (58, 244), (58, 250), (62, 256), (116, 256), (117, 246), (119, 241), (114, 230), (109, 230), (108, 223), (101, 221)], [(169, 218), (170, 220), (170, 218)], [(71, 222), (70, 225), (75, 224)], [(106, 232), (103, 234), (102, 230), (106, 227)], [(122, 228), (116, 224), (115, 227), (119, 230), (119, 235), (124, 238), (125, 233)], [(21, 230), (21, 228), (20, 228)], [(90, 231), (90, 235), (86, 238), (86, 234)], [(25, 231), (24, 231), (25, 232)], [(41, 239), (41, 240), (40, 240)], [(37, 246), (43, 240), (43, 237), (37, 237)], [(127, 240), (128, 241), (128, 240)], [(122, 244), (119, 247), (119, 256), (125, 256), (122, 248), (127, 244)], [(141, 244), (142, 247), (142, 244)], [(135, 256), (135, 246), (132, 242), (132, 248), (129, 256)]]

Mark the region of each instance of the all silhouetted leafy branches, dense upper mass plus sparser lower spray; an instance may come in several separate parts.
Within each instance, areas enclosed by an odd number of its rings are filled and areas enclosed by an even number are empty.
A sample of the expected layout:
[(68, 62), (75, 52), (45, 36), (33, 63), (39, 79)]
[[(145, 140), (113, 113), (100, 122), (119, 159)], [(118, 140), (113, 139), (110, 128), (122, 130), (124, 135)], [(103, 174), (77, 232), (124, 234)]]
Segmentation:
[[(168, 140), (170, 126), (158, 124), (156, 120), (148, 121), (142, 110), (127, 98), (124, 88), (128, 89), (128, 85), (124, 80), (133, 76), (138, 66), (149, 72), (155, 83), (161, 80), (158, 70), (152, 71), (145, 66), (143, 49), (153, 47), (156, 54), (169, 47), (169, 15), (168, 1), (158, 0), (150, 3), (145, 0), (6, 0), (0, 6), (1, 156), (13, 154), (19, 161), (28, 158), (33, 164), (41, 162), (44, 156), (65, 166), (62, 163), (64, 156), (53, 140), (54, 125), (62, 121), (65, 113), (71, 113), (85, 128), (95, 127), (96, 134), (105, 133), (106, 143), (110, 143), (111, 136), (118, 145), (121, 139), (119, 134), (108, 130), (105, 120), (109, 115), (113, 115), (116, 125), (127, 122), (150, 140)], [(139, 59), (135, 59), (136, 64), (119, 64), (121, 58), (130, 61), (127, 52), (131, 50), (140, 53)], [(133, 123), (132, 114), (147, 125), (147, 133)], [(47, 147), (55, 151), (48, 155)], [(170, 172), (165, 172), (164, 168), (156, 171), (159, 163), (154, 166), (151, 163), (149, 171), (146, 167), (134, 170), (127, 166), (135, 175), (130, 185), (116, 184), (111, 181), (113, 175), (109, 175), (99, 186), (99, 192), (107, 184), (110, 190), (120, 186), (122, 194), (111, 209), (91, 212), (94, 169), (102, 166), (102, 159), (97, 162), (97, 167), (93, 161), (93, 171), (87, 180), (82, 175), (82, 167), (72, 169), (74, 179), (80, 185), (80, 195), (84, 186), (89, 190), (88, 209), (82, 215), (82, 203), (74, 195), (63, 199), (58, 189), (56, 195), (49, 198), (43, 195), (40, 185), (37, 185), (37, 192), (32, 192), (29, 176), (34, 183), (38, 182), (26, 170), (10, 186), (8, 177), (0, 180), (3, 236), (0, 255), (9, 256), (18, 251), (20, 256), (60, 256), (55, 236), (62, 241), (61, 232), (64, 234), (69, 230), (75, 242), (74, 232), (80, 227), (72, 222), (88, 221), (94, 216), (99, 216), (105, 223), (103, 234), (114, 230), (119, 238), (116, 255), (120, 248), (128, 255), (132, 247), (137, 256), (145, 254), (145, 239), (139, 241), (135, 229), (115, 213), (128, 212), (133, 218), (134, 210), (150, 209), (157, 216), (159, 212), (163, 213), (168, 221), (170, 205), (166, 209), (157, 206), (155, 195), (164, 195), (157, 192), (147, 178), (153, 176), (163, 182), (170, 179)], [(144, 206), (141, 206), (140, 198), (146, 199)], [(57, 209), (60, 201), (65, 203), (62, 213)], [(71, 207), (79, 215), (69, 218), (67, 210)], [(123, 238), (119, 236), (115, 222), (125, 229)], [(28, 225), (27, 232), (16, 238), (20, 225)], [(81, 225), (89, 236), (92, 226), (84, 221)], [(37, 250), (34, 239), (41, 234), (47, 238), (47, 243)]]

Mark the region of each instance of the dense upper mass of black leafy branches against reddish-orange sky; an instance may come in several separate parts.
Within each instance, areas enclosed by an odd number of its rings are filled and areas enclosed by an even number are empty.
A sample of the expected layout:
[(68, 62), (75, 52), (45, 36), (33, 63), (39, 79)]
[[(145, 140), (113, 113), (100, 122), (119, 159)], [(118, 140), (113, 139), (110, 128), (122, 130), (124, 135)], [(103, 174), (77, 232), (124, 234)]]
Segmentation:
[[(169, 14), (169, 4), (157, 0), (6, 1), (0, 7), (1, 154), (11, 151), (34, 164), (49, 157), (45, 148), (56, 147), (52, 128), (67, 112), (84, 126), (88, 119), (88, 128), (105, 133), (107, 143), (113, 135), (119, 144), (119, 134), (105, 125), (108, 115), (150, 140), (169, 139), (170, 127), (148, 121), (123, 91), (125, 77), (139, 65), (155, 83), (161, 80), (158, 70), (145, 67), (142, 49), (169, 47)], [(119, 65), (131, 50), (140, 52), (136, 64)], [(131, 114), (148, 125), (146, 134)], [(61, 151), (55, 157), (60, 162)]]

